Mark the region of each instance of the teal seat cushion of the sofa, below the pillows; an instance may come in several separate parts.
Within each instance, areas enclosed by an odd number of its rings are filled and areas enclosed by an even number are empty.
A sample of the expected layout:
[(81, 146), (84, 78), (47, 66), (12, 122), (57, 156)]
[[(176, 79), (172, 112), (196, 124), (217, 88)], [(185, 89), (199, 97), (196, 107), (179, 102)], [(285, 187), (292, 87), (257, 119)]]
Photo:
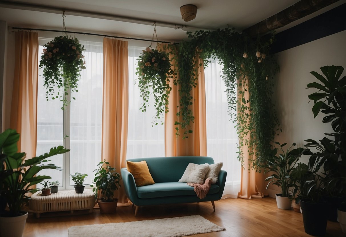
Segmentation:
[[(216, 184), (212, 184), (209, 194), (219, 192), (220, 187)], [(147, 186), (137, 187), (138, 198), (160, 198), (170, 196), (189, 196), (196, 195), (193, 187), (186, 183), (169, 182), (169, 183), (155, 183)]]

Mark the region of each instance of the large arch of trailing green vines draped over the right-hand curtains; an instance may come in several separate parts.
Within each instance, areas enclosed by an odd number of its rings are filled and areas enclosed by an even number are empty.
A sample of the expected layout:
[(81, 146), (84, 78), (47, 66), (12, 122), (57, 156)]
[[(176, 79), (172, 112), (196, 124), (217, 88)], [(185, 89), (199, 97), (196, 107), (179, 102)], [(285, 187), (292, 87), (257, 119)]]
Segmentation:
[[(242, 148), (250, 153), (248, 169), (261, 171), (272, 141), (279, 132), (279, 120), (272, 101), (274, 75), (279, 70), (276, 58), (269, 54), (270, 39), (252, 39), (233, 29), (187, 32), (189, 41), (169, 45), (175, 59), (175, 85), (179, 88), (179, 120), (175, 122), (176, 134), (183, 130), (184, 138), (192, 133), (194, 122), (191, 110), (192, 89), (197, 85), (196, 66), (200, 58), (204, 66), (210, 59), (218, 58), (222, 65), (222, 80), (226, 85), (231, 119), (237, 123), (239, 135), (238, 159), (243, 165)], [(245, 99), (249, 93), (249, 99)], [(238, 99), (238, 95), (240, 95)], [(249, 136), (248, 136), (249, 135)], [(256, 157), (256, 159), (255, 159)]]

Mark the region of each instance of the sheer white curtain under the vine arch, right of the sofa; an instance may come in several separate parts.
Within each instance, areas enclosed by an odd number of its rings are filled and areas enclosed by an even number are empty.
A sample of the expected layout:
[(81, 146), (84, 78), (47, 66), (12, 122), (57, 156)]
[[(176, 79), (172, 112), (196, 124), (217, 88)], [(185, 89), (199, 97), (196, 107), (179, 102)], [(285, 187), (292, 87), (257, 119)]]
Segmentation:
[(223, 162), (227, 171), (223, 198), (237, 198), (240, 191), (240, 163), (237, 160), (238, 135), (230, 121), (226, 86), (221, 78), (222, 67), (213, 60), (204, 70), (206, 82), (207, 154)]

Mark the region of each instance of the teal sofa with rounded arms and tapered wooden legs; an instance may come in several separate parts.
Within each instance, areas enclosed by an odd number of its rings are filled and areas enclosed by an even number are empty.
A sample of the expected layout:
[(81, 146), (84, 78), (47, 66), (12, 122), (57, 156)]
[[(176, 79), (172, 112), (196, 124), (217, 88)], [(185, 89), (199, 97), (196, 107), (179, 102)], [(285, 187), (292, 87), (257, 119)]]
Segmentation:
[(133, 175), (126, 168), (121, 169), (126, 195), (133, 205), (136, 205), (135, 216), (140, 206), (204, 201), (211, 201), (215, 211), (214, 201), (221, 198), (225, 188), (227, 175), (225, 170), (220, 171), (218, 182), (211, 185), (209, 193), (203, 199), (197, 197), (193, 187), (178, 182), (189, 163), (214, 164), (211, 157), (184, 156), (128, 159), (132, 162), (144, 160), (155, 184), (137, 187)]

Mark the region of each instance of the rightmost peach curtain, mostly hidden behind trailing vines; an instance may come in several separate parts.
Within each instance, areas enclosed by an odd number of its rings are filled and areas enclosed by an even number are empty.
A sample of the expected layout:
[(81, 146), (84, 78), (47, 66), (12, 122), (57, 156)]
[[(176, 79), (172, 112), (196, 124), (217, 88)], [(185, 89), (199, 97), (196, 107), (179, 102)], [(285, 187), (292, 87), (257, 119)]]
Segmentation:
[[(248, 79), (245, 77), (245, 78), (240, 78), (239, 80), (242, 84), (242, 87), (238, 87), (238, 91), (241, 90), (245, 101), (248, 101), (249, 100)], [(242, 94), (238, 93), (239, 103), (242, 103)], [(238, 103), (238, 106), (241, 105), (239, 103)], [(249, 102), (247, 102), (246, 106), (250, 107)], [(250, 116), (251, 116), (251, 113), (250, 113)], [(248, 133), (248, 135), (245, 136), (243, 139), (244, 140), (251, 139), (250, 134)], [(241, 180), (240, 180), (240, 192), (238, 193), (238, 197), (245, 198), (245, 199), (263, 198), (264, 197), (263, 192), (265, 190), (264, 174), (263, 172), (261, 173), (255, 172), (255, 170), (253, 170), (252, 168), (248, 170), (248, 167), (250, 167), (249, 165), (251, 165), (249, 161), (251, 154), (249, 153), (252, 153), (252, 151), (248, 151), (248, 148), (245, 145), (245, 141), (244, 141), (244, 146), (242, 148), (242, 151), (243, 151), (244, 167), (241, 168), (242, 171), (241, 171)], [(254, 157), (251, 157), (251, 158), (253, 159)]]

